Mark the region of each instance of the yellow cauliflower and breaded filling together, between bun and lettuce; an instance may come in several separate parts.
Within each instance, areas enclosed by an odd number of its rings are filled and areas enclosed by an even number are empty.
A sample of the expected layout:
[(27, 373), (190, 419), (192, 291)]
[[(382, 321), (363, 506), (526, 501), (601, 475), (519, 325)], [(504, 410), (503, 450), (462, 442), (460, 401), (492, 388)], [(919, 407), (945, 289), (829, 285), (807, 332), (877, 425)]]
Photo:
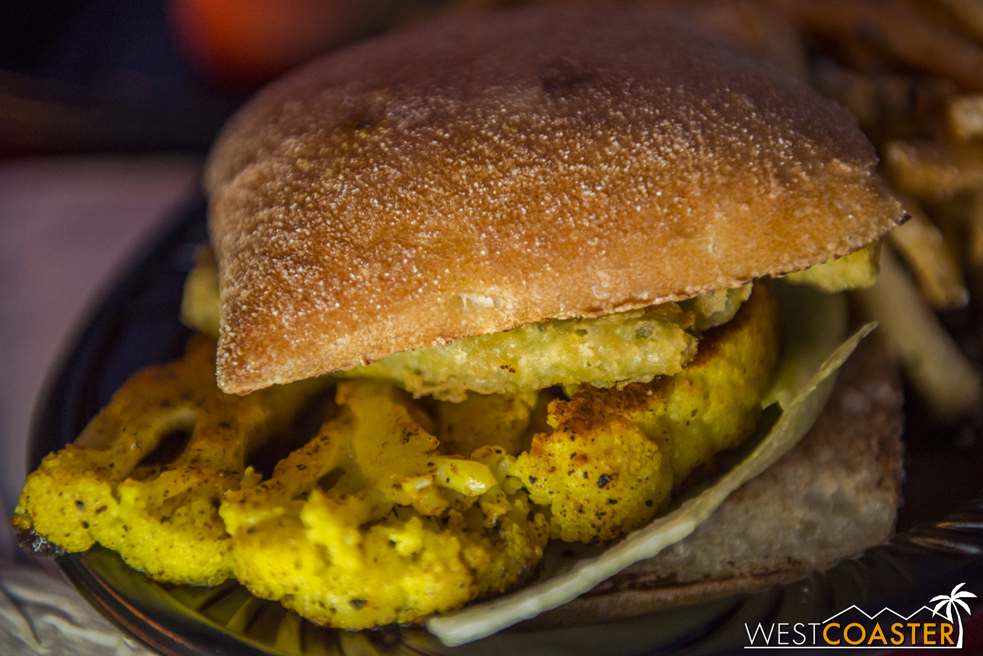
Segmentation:
[[(193, 274), (189, 290), (196, 276), (208, 279)], [(318, 624), (423, 621), (523, 583), (549, 538), (606, 544), (663, 512), (691, 472), (757, 430), (780, 332), (772, 285), (756, 282), (246, 397), (218, 391), (202, 338), (136, 374), (76, 444), (45, 458), (14, 524), (35, 546), (98, 542), (157, 580), (235, 576)], [(511, 358), (498, 371), (517, 368), (503, 380), (549, 385), (472, 389), (492, 361), (476, 355), (484, 342)], [(537, 359), (535, 345), (552, 355)], [(267, 443), (311, 403), (326, 415), (315, 435), (260, 473)], [(175, 431), (187, 444), (160, 462)]]

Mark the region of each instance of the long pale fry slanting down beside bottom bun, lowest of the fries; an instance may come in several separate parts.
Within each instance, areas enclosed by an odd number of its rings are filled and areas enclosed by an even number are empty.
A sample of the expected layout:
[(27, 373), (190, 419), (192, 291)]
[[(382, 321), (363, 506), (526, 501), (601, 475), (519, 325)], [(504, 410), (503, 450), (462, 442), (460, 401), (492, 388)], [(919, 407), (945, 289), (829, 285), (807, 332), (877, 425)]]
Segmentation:
[(881, 330), (911, 385), (941, 416), (971, 413), (983, 401), (983, 379), (921, 298), (890, 248), (881, 251), (873, 287), (852, 292)]

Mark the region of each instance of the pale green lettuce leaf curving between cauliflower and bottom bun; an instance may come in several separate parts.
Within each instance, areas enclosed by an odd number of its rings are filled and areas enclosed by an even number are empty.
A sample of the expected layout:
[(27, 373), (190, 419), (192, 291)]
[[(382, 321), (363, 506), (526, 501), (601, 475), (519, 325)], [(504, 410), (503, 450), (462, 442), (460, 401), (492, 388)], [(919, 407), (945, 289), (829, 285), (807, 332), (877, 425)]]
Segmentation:
[(444, 644), (454, 646), (491, 635), (586, 592), (632, 563), (652, 558), (689, 535), (727, 496), (778, 461), (809, 431), (826, 406), (836, 371), (876, 323), (843, 340), (846, 302), (807, 288), (777, 285), (785, 338), (776, 380), (764, 406), (779, 404), (781, 414), (768, 434), (738, 465), (709, 487), (694, 490), (674, 509), (601, 555), (490, 602), (475, 604), (427, 622)]

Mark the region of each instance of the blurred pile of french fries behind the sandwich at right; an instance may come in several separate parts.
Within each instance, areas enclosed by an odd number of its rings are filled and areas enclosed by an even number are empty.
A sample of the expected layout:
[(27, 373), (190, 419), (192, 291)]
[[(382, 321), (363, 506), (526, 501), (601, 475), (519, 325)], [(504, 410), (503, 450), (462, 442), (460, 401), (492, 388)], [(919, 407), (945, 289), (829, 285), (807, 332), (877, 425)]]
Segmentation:
[[(576, 1), (449, 0), (437, 11)], [(965, 307), (970, 292), (983, 301), (983, 0), (636, 2), (688, 14), (857, 116), (910, 219), (854, 301), (880, 321), (930, 410), (977, 413), (983, 323), (960, 349), (938, 313)]]

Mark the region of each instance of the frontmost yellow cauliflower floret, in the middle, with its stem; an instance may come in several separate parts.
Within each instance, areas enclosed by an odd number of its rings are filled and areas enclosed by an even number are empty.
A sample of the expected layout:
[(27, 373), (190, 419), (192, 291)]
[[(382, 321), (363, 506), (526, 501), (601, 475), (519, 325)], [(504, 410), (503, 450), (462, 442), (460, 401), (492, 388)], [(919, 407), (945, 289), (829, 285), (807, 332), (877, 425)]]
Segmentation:
[(269, 480), (225, 495), (240, 582), (319, 624), (365, 629), (532, 571), (549, 529), (524, 494), (501, 492), (484, 463), (441, 455), (430, 418), (388, 383), (339, 383), (336, 402)]

